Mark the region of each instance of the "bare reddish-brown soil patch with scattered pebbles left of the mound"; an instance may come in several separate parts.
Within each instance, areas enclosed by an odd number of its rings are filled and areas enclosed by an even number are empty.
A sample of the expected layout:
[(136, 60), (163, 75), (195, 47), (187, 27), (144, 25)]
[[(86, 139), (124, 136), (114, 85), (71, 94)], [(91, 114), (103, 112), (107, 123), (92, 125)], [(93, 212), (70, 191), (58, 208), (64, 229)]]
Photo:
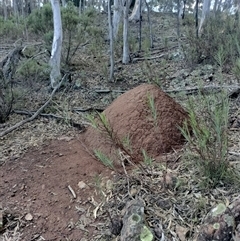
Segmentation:
[[(96, 199), (93, 184), (99, 175), (108, 177), (111, 171), (86, 152), (81, 146), (81, 136), (78, 140), (65, 139), (32, 149), (23, 158), (9, 161), (0, 169), (3, 210), (10, 219), (19, 218), (20, 240), (43, 240), (41, 237), (45, 240), (88, 237), (87, 240), (91, 240), (94, 236), (97, 227), (90, 224), (97, 224), (99, 220), (92, 216), (96, 208), (91, 199)], [(81, 181), (86, 184), (83, 189), (78, 186)], [(74, 190), (76, 198), (68, 186)], [(25, 219), (27, 214), (32, 220)], [(12, 228), (15, 225), (13, 223)], [(89, 233), (83, 231), (85, 226)]]

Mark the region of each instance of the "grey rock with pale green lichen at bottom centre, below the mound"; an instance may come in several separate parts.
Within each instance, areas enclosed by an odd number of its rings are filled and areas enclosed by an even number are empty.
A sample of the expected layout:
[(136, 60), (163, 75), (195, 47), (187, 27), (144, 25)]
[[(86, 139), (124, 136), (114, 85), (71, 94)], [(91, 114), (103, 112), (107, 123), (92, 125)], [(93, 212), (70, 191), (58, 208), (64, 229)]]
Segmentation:
[(144, 202), (132, 200), (125, 207), (120, 241), (152, 241), (154, 236), (145, 224)]

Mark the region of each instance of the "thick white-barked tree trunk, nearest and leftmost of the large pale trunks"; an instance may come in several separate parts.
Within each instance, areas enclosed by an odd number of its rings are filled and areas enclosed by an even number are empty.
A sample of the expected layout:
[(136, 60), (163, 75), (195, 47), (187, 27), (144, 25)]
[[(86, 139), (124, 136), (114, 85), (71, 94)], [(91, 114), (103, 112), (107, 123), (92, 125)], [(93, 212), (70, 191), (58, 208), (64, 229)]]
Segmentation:
[(54, 37), (49, 61), (51, 67), (50, 81), (52, 88), (56, 88), (61, 79), (62, 20), (59, 0), (51, 0), (51, 5), (53, 11)]

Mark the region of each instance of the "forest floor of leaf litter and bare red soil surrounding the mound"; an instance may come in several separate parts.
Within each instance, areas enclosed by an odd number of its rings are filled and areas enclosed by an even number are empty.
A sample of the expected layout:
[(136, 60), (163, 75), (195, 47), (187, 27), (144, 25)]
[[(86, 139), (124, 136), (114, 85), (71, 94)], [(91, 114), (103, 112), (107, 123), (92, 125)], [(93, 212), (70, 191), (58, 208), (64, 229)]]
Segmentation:
[[(40, 116), (0, 138), (1, 241), (119, 240), (110, 217), (119, 221), (126, 200), (133, 195), (144, 199), (146, 220), (156, 240), (161, 240), (158, 234), (163, 230), (165, 240), (192, 241), (213, 207), (221, 202), (228, 205), (239, 197), (234, 186), (220, 184), (209, 189), (199, 185), (194, 160), (191, 164), (185, 160), (185, 146), (163, 154), (162, 162), (150, 167), (142, 164), (152, 174), (145, 175), (136, 165), (117, 172), (108, 169), (84, 144), (83, 126), (89, 125), (86, 114), (106, 109), (119, 95), (140, 84), (157, 82), (183, 106), (188, 96), (175, 94), (180, 89), (198, 88), (199, 82), (224, 84), (230, 90), (239, 84), (231, 72), (212, 65), (190, 66), (181, 60), (174, 21), (171, 16), (154, 16), (158, 47), (148, 53), (152, 59), (146, 60), (140, 52), (132, 55), (134, 63), (122, 65), (118, 61), (114, 83), (99, 70), (99, 59), (78, 55), (72, 82), (56, 93), (45, 111), (63, 119)], [(74, 85), (79, 79), (80, 87), (79, 83)], [(30, 90), (21, 88), (24, 95), (14, 110), (36, 111), (49, 96), (48, 81), (31, 82)], [(239, 106), (239, 98), (231, 100), (229, 160), (236, 168), (240, 168)], [(12, 113), (0, 131), (25, 118)], [(78, 125), (74, 127), (69, 118)]]

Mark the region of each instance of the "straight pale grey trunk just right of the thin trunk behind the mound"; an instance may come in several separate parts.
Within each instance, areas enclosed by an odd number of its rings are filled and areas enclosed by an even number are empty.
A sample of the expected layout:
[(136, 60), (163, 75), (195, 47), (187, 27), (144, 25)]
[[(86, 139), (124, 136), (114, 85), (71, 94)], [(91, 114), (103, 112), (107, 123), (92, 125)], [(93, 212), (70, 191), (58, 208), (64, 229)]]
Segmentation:
[(129, 56), (129, 44), (128, 44), (128, 12), (129, 3), (128, 0), (123, 0), (123, 59), (124, 64), (130, 62)]

